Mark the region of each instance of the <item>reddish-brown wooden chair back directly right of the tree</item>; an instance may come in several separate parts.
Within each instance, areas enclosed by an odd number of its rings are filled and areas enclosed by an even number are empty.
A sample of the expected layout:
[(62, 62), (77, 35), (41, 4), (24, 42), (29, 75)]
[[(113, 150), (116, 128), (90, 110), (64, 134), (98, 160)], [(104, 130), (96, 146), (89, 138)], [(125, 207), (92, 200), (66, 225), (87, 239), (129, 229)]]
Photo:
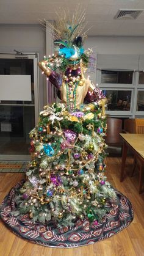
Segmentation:
[(119, 133), (122, 133), (122, 120), (112, 117), (107, 118), (106, 144), (109, 146), (120, 146), (122, 141)]

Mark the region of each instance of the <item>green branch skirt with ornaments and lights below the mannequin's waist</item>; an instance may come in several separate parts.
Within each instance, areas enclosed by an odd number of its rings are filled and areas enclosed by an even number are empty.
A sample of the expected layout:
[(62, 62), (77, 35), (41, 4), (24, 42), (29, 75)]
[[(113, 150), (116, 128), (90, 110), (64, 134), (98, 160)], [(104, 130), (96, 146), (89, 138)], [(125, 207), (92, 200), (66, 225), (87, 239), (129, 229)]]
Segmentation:
[(85, 218), (98, 224), (115, 197), (104, 176), (105, 134), (106, 116), (96, 103), (73, 113), (62, 103), (45, 106), (30, 133), (33, 159), (13, 214), (29, 213), (42, 223), (52, 219), (59, 227)]

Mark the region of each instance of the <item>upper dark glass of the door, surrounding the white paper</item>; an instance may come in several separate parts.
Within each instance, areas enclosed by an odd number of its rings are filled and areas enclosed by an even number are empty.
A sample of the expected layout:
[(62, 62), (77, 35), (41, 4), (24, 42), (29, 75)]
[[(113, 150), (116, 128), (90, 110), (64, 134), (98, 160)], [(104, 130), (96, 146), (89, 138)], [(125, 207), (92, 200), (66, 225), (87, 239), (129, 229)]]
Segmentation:
[(34, 104), (34, 60), (0, 59), (0, 75), (31, 75), (32, 101), (7, 101), (0, 104)]

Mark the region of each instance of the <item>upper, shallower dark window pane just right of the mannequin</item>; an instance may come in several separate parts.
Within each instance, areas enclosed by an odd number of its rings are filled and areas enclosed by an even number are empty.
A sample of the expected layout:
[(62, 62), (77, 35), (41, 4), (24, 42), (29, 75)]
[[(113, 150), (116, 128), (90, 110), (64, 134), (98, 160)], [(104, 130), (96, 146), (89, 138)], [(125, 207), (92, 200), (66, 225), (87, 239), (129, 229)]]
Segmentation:
[(132, 84), (133, 71), (101, 70), (102, 84)]

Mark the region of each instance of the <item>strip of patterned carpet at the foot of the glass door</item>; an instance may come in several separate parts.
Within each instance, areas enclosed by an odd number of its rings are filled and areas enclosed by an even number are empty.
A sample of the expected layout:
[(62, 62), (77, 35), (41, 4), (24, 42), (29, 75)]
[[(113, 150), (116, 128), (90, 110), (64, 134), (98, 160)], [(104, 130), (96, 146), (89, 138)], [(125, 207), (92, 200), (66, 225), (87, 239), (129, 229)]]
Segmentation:
[(27, 162), (0, 161), (0, 172), (26, 172)]

